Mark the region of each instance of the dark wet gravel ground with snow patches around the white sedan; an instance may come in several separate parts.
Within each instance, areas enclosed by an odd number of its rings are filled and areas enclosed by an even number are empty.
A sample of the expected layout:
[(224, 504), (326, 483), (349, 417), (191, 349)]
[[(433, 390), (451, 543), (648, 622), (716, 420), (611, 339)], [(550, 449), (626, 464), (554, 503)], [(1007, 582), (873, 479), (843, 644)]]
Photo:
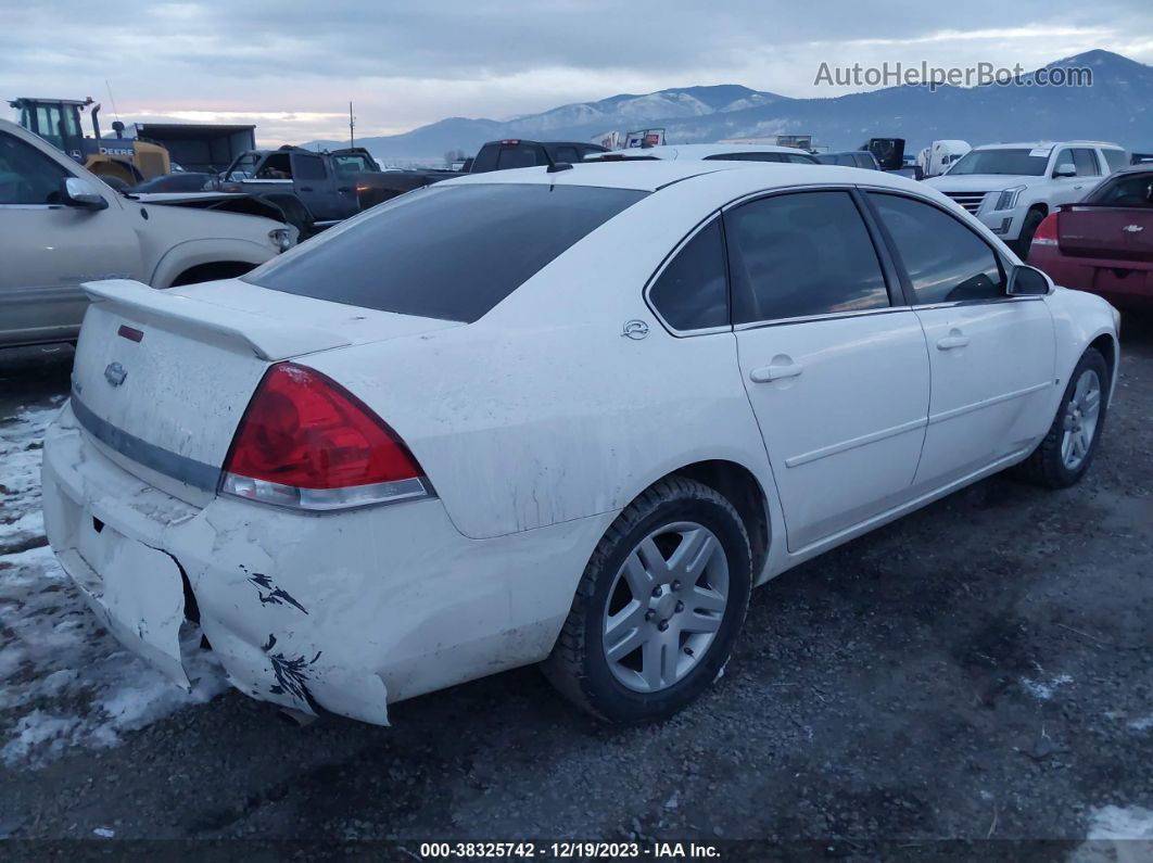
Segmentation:
[[(1125, 860), (1078, 846), (1117, 823), (1153, 839), (1153, 321), (1124, 342), (1083, 484), (994, 477), (786, 573), (714, 690), (651, 727), (598, 727), (534, 668), (395, 705), (391, 728), (295, 728), (211, 663), (178, 698), (108, 658), (36, 547), (35, 490), (0, 486), (0, 835), (1053, 839)], [(60, 402), (69, 363), (0, 355), (6, 465), (38, 457), (18, 417)], [(70, 633), (82, 667), (27, 633)]]

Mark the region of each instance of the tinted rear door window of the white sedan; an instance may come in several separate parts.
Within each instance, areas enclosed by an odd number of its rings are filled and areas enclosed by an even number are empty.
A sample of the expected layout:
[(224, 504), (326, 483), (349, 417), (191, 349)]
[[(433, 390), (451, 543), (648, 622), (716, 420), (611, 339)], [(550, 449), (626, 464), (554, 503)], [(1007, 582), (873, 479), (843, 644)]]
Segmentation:
[(725, 214), (734, 324), (889, 305), (884, 275), (846, 191), (778, 195)]

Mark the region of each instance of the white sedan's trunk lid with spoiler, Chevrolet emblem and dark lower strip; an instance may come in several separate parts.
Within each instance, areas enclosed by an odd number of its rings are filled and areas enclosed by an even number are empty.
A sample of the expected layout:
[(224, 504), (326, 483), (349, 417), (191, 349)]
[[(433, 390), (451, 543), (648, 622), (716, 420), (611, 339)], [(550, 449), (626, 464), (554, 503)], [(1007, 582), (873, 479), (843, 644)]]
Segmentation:
[(193, 504), (214, 493), (233, 433), (267, 366), (351, 345), (459, 326), (240, 281), (156, 290), (90, 282), (73, 410), (121, 467)]

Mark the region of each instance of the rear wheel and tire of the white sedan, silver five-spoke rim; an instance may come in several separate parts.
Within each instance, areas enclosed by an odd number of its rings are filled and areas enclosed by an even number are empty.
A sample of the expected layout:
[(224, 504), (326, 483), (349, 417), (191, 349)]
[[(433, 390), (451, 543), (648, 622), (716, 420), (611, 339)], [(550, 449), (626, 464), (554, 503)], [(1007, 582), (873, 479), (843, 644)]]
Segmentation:
[(748, 532), (715, 490), (672, 476), (593, 553), (545, 676), (610, 722), (664, 719), (719, 675), (752, 588)]

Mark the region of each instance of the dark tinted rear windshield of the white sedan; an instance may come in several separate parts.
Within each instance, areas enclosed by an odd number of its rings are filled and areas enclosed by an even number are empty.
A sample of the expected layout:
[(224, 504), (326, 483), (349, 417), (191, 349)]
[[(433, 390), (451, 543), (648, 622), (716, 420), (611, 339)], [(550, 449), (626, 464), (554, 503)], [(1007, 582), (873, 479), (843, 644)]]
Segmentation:
[(434, 186), (332, 228), (244, 281), (470, 324), (647, 195), (543, 183)]

